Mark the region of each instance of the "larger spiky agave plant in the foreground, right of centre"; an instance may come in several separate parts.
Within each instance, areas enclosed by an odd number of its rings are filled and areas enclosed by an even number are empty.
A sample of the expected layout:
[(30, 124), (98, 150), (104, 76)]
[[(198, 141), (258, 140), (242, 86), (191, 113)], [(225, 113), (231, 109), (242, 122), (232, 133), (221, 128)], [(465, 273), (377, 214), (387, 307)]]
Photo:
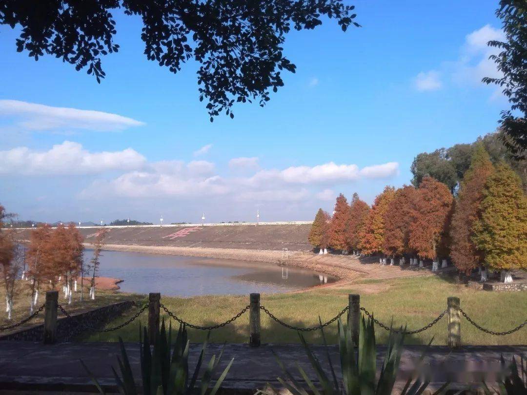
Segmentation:
[[(320, 322), (321, 323), (321, 322)], [(388, 345), (384, 362), (380, 370), (378, 379), (376, 378), (376, 358), (377, 351), (375, 345), (375, 330), (372, 319), (367, 320), (362, 318), (359, 329), (359, 342), (357, 351), (354, 348), (352, 340), (352, 330), (349, 326), (344, 326), (340, 319), (338, 320), (338, 345), (340, 353), (340, 369), (342, 373), (343, 382), (337, 380), (333, 363), (329, 357), (329, 350), (327, 347), (326, 336), (324, 330), (320, 329), (325, 345), (327, 368), (331, 372), (331, 379), (326, 374), (322, 365), (315, 357), (313, 352), (304, 339), (304, 336), (299, 332), (300, 342), (304, 345), (307, 358), (316, 372), (319, 387), (308, 377), (305, 370), (297, 363), (297, 369), (302, 379), (309, 387), (309, 391), (314, 395), (390, 395), (393, 392), (395, 379), (399, 370), (399, 363), (401, 362), (401, 355), (403, 353), (404, 334), (390, 332), (388, 338)], [(432, 342), (432, 341), (431, 341)], [(430, 343), (431, 343), (430, 342)], [(428, 343), (428, 345), (430, 345)], [(424, 353), (419, 359), (421, 362), (424, 358)], [(276, 360), (285, 373), (284, 378), (277, 378), (278, 381), (287, 388), (293, 395), (308, 395), (307, 389), (302, 387), (302, 384), (296, 380), (290, 371), (285, 367), (284, 363), (275, 354)], [(430, 380), (422, 378), (420, 375), (412, 375), (407, 381), (401, 392), (401, 395), (418, 395), (421, 394), (430, 383)], [(443, 392), (448, 383), (445, 383), (435, 393)], [(270, 391), (259, 391), (260, 394), (278, 393), (271, 386), (268, 387)]]

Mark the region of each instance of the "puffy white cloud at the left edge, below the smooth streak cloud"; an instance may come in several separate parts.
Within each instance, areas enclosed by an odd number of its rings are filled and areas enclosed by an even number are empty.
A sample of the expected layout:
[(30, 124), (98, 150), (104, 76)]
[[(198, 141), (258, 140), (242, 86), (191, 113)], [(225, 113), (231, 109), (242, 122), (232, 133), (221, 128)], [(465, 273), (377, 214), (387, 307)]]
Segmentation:
[(115, 152), (89, 152), (82, 145), (64, 141), (48, 151), (27, 147), (0, 151), (0, 174), (80, 175), (109, 170), (132, 170), (142, 167), (146, 159), (137, 151), (126, 148)]

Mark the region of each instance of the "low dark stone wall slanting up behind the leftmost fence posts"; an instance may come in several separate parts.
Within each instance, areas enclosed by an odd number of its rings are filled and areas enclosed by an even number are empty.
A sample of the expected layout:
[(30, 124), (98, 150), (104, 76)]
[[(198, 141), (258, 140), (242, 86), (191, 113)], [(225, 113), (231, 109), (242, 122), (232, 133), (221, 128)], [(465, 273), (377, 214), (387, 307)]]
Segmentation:
[[(63, 317), (58, 319), (57, 341), (67, 342), (73, 340), (76, 336), (86, 332), (85, 326), (93, 327), (94, 329), (102, 329), (104, 325), (129, 310), (133, 305), (135, 305), (135, 302), (125, 301), (73, 315), (71, 318)], [(27, 340), (41, 342), (43, 341), (43, 337), (44, 324), (40, 324), (18, 332), (0, 336), (0, 340)]]

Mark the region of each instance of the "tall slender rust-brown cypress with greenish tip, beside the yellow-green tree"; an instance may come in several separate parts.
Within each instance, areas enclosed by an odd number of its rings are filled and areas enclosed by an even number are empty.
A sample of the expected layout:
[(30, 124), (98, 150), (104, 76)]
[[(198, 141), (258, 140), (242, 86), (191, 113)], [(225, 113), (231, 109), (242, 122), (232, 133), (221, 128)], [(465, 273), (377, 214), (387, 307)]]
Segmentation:
[(474, 148), (471, 165), (461, 181), (455, 201), (450, 238), (450, 256), (460, 272), (470, 274), (472, 269), (482, 265), (484, 256), (472, 241), (474, 222), (480, 217), (481, 201), (485, 182), (493, 174), (494, 166), (483, 143)]

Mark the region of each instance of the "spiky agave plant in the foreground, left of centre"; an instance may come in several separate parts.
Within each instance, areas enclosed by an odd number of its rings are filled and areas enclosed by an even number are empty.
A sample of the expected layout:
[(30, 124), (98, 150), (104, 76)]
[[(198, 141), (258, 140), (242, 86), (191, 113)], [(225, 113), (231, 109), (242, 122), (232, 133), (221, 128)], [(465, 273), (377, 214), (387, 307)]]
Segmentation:
[[(121, 358), (118, 357), (120, 375), (112, 367), (112, 372), (115, 377), (119, 393), (122, 395), (137, 395), (142, 393), (144, 395), (190, 395), (196, 392), (196, 384), (200, 375), (201, 365), (203, 363), (203, 356), (207, 350), (207, 344), (210, 338), (210, 331), (207, 334), (207, 339), (203, 343), (201, 353), (199, 355), (198, 363), (194, 369), (192, 376), (189, 374), (189, 345), (190, 341), (187, 335), (187, 329), (184, 325), (179, 326), (178, 335), (172, 344), (172, 327), (169, 330), (165, 329), (164, 320), (161, 324), (161, 329), (158, 336), (154, 340), (153, 349), (150, 347), (150, 340), (148, 338), (147, 328), (143, 327), (143, 335), (140, 335), (140, 357), (141, 357), (141, 377), (142, 377), (142, 391), (138, 392), (134, 380), (134, 374), (130, 365), (128, 354), (124, 348), (124, 343), (119, 338), (121, 349)], [(172, 350), (171, 350), (172, 349)], [(221, 361), (223, 350), (221, 350), (218, 358), (212, 355), (206, 369), (199, 379), (199, 393), (205, 395), (209, 390), (212, 381), (212, 375), (216, 372)], [(220, 377), (208, 392), (208, 395), (215, 395), (221, 386), (221, 383), (227, 376), (234, 358), (230, 360), (227, 367), (223, 370)], [(99, 392), (105, 395), (101, 385), (86, 367), (85, 363), (81, 363), (93, 380), (95, 387)]]

